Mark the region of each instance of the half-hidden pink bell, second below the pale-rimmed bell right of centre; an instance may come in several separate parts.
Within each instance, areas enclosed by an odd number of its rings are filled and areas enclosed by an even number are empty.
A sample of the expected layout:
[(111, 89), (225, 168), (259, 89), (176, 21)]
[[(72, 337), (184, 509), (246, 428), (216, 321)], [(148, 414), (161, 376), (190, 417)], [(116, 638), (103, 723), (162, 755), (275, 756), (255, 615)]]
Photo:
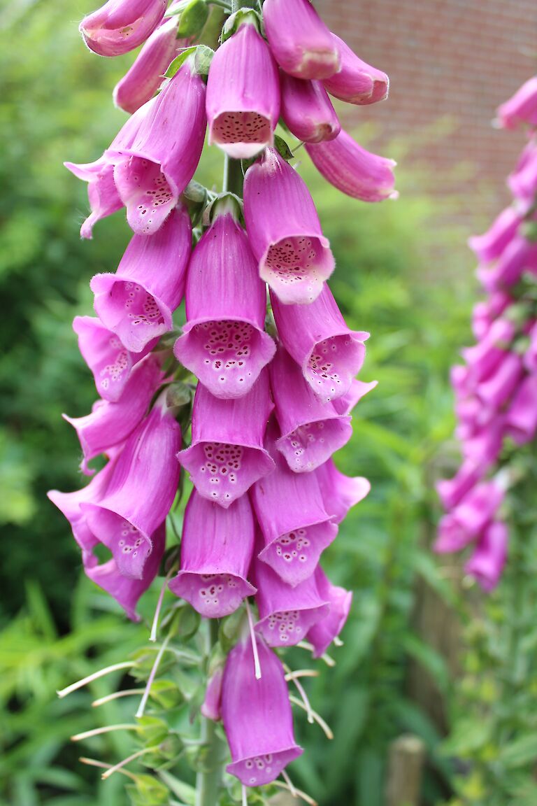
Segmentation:
[(291, 355), (279, 347), (271, 361), (271, 388), (282, 436), (276, 447), (295, 473), (315, 470), (353, 435), (351, 418), (322, 403)]

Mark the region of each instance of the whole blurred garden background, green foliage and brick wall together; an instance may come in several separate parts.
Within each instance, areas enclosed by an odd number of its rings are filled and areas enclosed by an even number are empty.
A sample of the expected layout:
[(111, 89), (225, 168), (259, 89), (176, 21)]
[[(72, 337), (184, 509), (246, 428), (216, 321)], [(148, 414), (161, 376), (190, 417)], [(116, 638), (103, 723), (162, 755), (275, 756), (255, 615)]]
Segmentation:
[[(335, 737), (297, 715), (307, 752), (291, 767), (321, 806), (537, 803), (537, 535), (521, 513), (502, 583), (484, 596), (457, 559), (429, 546), (434, 482), (458, 455), (448, 369), (472, 342), (477, 298), (465, 246), (507, 201), (504, 177), (523, 145), (490, 126), (494, 110), (535, 73), (531, 0), (322, 0), (324, 19), (360, 56), (390, 74), (380, 106), (345, 109), (362, 144), (399, 161), (398, 202), (366, 206), (316, 175), (312, 188), (337, 256), (332, 288), (349, 325), (370, 330), (354, 435), (337, 456), (368, 476), (370, 496), (341, 527), (328, 571), (354, 590), (345, 646), (308, 692)], [(78, 236), (86, 186), (62, 166), (99, 156), (122, 125), (111, 90), (133, 56), (85, 50), (72, 0), (0, 2), (0, 803), (125, 806), (120, 776), (81, 767), (76, 730), (125, 721), (121, 703), (92, 711), (92, 692), (55, 692), (147, 641), (81, 575), (50, 488), (81, 486), (79, 447), (60, 414), (88, 413), (93, 381), (71, 329), (89, 314), (89, 278), (114, 271), (129, 239), (122, 213)], [(213, 183), (221, 156), (208, 152)], [(534, 481), (537, 481), (535, 479)], [(522, 517), (523, 515), (523, 517)], [(151, 617), (151, 596), (143, 612)], [(128, 737), (82, 751), (114, 762)], [(415, 772), (414, 772), (415, 771)], [(97, 780), (99, 779), (99, 780)], [(401, 792), (399, 791), (399, 796)]]

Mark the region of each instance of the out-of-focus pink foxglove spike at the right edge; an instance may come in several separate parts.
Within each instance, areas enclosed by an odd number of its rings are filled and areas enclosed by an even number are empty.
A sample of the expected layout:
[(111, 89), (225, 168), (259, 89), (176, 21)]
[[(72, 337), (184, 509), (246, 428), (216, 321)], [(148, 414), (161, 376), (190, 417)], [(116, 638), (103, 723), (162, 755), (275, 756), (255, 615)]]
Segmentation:
[(448, 514), (435, 544), (451, 552), (475, 543), (466, 571), (487, 591), (506, 561), (510, 458), (537, 432), (537, 77), (499, 107), (497, 124), (527, 127), (528, 142), (507, 180), (513, 203), (469, 241), (487, 297), (473, 310), (477, 343), (452, 368), (463, 462), (438, 484)]

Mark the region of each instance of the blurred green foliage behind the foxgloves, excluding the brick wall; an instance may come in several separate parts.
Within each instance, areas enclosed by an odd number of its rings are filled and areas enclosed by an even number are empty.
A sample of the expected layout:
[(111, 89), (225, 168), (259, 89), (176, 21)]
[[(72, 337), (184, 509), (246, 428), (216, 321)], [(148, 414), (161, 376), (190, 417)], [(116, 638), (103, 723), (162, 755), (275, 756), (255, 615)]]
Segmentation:
[[(66, 0), (0, 10), (0, 181), (7, 189), (0, 198), (0, 800), (10, 806), (126, 804), (121, 776), (101, 782), (68, 744), (76, 731), (132, 718), (129, 698), (98, 713), (89, 708), (92, 695), (121, 683), (119, 675), (66, 700), (55, 691), (147, 641), (147, 623), (126, 623), (114, 603), (78, 580), (78, 550), (45, 497), (49, 488), (82, 484), (76, 437), (60, 413), (86, 413), (95, 393), (70, 323), (90, 313), (89, 277), (114, 270), (128, 239), (117, 214), (81, 243), (85, 185), (61, 165), (95, 159), (124, 119), (110, 91), (129, 59), (85, 51), (76, 32), (85, 10)], [(208, 156), (217, 170), (220, 155)], [(200, 179), (212, 183), (210, 170)], [(432, 481), (455, 461), (455, 454), (442, 458), (442, 446), (453, 426), (448, 368), (470, 339), (472, 264), (464, 243), (471, 226), (453, 223), (458, 200), (432, 197), (417, 168), (399, 172), (400, 201), (381, 206), (341, 197), (308, 164), (301, 171), (337, 256), (334, 293), (349, 324), (372, 333), (363, 377), (379, 385), (358, 406), (353, 440), (337, 459), (373, 484), (327, 553), (331, 575), (355, 591), (345, 646), (333, 652), (337, 666), (322, 667), (308, 683), (335, 738), (327, 742), (298, 713), (307, 752), (291, 775), (322, 806), (380, 806), (390, 742), (410, 732), (427, 748), (423, 804), (533, 806), (535, 534), (514, 543), (506, 580), (486, 602), (453, 590), (428, 551), (437, 514)], [(519, 526), (523, 536), (531, 517)], [(415, 627), (423, 585), (466, 625), (461, 679), (451, 679)], [(304, 666), (300, 650), (289, 659)], [(435, 715), (410, 696), (411, 667), (433, 681), (452, 721), (447, 739)], [(131, 751), (122, 733), (83, 749), (109, 762)]]

